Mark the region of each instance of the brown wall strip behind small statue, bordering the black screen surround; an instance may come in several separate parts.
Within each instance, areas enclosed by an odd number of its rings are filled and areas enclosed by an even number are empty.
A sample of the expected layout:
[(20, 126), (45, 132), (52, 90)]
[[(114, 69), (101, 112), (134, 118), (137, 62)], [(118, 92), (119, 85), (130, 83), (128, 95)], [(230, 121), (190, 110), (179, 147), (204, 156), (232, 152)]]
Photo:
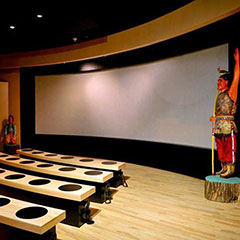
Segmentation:
[(8, 82), (8, 114), (17, 126), (17, 144), (21, 143), (20, 128), (20, 72), (19, 69), (0, 71), (0, 79)]

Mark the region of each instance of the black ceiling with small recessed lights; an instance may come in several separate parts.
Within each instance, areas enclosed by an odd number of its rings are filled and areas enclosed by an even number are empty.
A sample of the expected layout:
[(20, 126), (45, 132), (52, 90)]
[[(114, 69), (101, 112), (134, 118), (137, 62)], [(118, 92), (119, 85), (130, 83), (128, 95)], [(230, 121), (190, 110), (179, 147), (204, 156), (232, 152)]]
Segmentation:
[[(163, 16), (192, 0), (154, 4), (139, 1), (136, 5), (124, 1), (59, 1), (55, 5), (32, 2), (1, 3), (0, 54), (66, 46), (107, 36)], [(42, 18), (37, 14), (42, 14)], [(73, 38), (77, 40), (74, 42)]]

